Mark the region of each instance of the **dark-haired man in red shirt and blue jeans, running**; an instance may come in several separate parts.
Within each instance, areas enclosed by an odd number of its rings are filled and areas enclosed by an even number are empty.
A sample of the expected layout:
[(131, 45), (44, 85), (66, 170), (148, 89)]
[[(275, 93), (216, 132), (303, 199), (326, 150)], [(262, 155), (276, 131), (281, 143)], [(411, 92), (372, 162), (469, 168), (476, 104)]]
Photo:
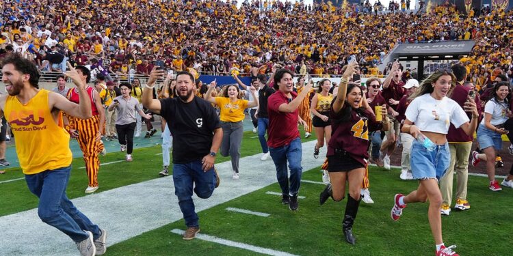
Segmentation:
[[(293, 74), (285, 68), (274, 74), (274, 89), (276, 92), (267, 99), (269, 114), (269, 139), (267, 145), (274, 165), (276, 177), (282, 190), (282, 203), (289, 204), (290, 210), (298, 210), (298, 191), (301, 183), (301, 139), (298, 123), (306, 126), (306, 122), (298, 115), (298, 107), (312, 83), (304, 86), (300, 94), (293, 91)], [(287, 171), (287, 161), (290, 168)]]

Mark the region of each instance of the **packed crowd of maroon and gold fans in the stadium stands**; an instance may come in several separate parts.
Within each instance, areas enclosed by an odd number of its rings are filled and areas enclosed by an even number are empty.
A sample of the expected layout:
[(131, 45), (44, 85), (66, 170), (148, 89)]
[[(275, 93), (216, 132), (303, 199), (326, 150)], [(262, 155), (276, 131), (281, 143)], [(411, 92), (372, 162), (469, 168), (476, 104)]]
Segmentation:
[(445, 3), (425, 13), (373, 15), (363, 6), (336, 8), (329, 1), (313, 7), (245, 1), (239, 8), (235, 1), (3, 1), (0, 54), (24, 53), (42, 71), (60, 71), (69, 59), (92, 65), (93, 73), (109, 80), (147, 75), (157, 63), (175, 71), (226, 74), (237, 69), (247, 75), (252, 67), (268, 73), (272, 63), (280, 63), (296, 74), (338, 76), (351, 58), (364, 75), (380, 76), (386, 70), (378, 65), (399, 43), (475, 40), (472, 53), (461, 60), (479, 81), (475, 84), (488, 83), (497, 72), (510, 73), (513, 12), (462, 14)]

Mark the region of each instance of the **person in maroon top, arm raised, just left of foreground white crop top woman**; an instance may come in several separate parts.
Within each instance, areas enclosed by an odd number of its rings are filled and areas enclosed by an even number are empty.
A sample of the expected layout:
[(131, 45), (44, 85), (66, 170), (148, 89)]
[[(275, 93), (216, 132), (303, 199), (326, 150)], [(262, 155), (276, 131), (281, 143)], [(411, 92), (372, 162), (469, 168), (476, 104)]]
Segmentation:
[(395, 142), (399, 137), (400, 132), (400, 123), (397, 121), (395, 117), (399, 115), (397, 113), (397, 105), (399, 104), (399, 100), (406, 94), (404, 90), (404, 82), (402, 79), (402, 66), (398, 61), (395, 61), (392, 64), (392, 70), (389, 76), (386, 76), (386, 79), (383, 81), (383, 91), (382, 96), (386, 100), (386, 103), (391, 107), (389, 109), (389, 119), (391, 122), (389, 131), (385, 132), (385, 138), (381, 143), (380, 150), (380, 161), (383, 161), (385, 169), (390, 170), (390, 156), (393, 154), (395, 150)]

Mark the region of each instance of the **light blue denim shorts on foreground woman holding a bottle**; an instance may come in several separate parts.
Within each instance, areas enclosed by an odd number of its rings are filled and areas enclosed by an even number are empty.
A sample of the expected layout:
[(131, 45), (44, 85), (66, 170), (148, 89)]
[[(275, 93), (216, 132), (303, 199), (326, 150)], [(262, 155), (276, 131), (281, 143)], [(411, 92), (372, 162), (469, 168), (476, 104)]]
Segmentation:
[(435, 150), (429, 152), (419, 141), (413, 140), (410, 165), (415, 180), (440, 180), (449, 168), (450, 161), (449, 143), (437, 145)]

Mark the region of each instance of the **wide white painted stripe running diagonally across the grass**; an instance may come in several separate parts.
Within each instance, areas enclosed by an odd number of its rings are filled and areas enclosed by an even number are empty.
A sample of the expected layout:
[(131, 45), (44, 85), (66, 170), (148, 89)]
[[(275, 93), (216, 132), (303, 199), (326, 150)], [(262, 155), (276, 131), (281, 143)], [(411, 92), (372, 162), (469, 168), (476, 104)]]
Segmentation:
[[(302, 144), (304, 171), (319, 167), (324, 161), (321, 158), (311, 157), (314, 145), (315, 141)], [(260, 157), (261, 154), (256, 154), (241, 158), (240, 180), (232, 180), (230, 161), (215, 165), (221, 178), (220, 187), (215, 189), (209, 199), (199, 199), (194, 195), (196, 212), (207, 210), (276, 183), (274, 163), (270, 158), (261, 161)], [(157, 173), (155, 173), (155, 177), (157, 177)], [(100, 184), (98, 191), (101, 189)], [(174, 195), (174, 184), (170, 176), (94, 193), (72, 201), (90, 220), (109, 232), (107, 238), (109, 245), (139, 236), (144, 232), (183, 218), (178, 199)], [(277, 208), (281, 207), (281, 202), (278, 199), (269, 198), (267, 203), (276, 205)], [(75, 243), (68, 236), (40, 221), (37, 209), (0, 217), (0, 230), (0, 255), (78, 254)]]

